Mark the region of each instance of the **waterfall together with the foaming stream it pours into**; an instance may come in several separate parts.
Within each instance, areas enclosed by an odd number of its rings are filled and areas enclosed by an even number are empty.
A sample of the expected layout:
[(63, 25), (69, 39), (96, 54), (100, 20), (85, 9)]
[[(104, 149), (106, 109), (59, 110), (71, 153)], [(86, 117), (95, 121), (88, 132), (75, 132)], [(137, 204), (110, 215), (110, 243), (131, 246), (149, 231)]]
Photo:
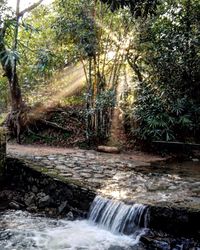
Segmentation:
[(129, 206), (101, 197), (95, 198), (88, 220), (57, 220), (22, 211), (6, 211), (0, 213), (0, 249), (145, 249), (139, 242), (146, 224), (145, 215), (145, 206)]

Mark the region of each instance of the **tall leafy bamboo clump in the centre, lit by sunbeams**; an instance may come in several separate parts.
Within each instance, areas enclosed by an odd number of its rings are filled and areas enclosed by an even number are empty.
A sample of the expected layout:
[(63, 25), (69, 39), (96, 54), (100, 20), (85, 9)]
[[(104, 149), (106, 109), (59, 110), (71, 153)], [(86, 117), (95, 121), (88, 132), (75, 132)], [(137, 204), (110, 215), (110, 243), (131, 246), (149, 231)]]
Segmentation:
[[(112, 13), (99, 1), (56, 1), (54, 28), (59, 42), (81, 61), (86, 78), (88, 139), (109, 136), (116, 89), (132, 37), (127, 10)], [(70, 53), (69, 53), (70, 54)]]

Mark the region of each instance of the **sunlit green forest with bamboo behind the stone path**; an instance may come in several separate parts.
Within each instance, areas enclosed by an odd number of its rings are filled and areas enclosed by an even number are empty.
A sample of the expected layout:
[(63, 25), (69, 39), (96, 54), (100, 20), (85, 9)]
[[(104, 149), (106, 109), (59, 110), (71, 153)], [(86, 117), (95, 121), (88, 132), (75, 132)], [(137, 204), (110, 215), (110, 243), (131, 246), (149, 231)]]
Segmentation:
[(19, 143), (200, 142), (199, 0), (2, 0), (0, 13), (0, 123)]

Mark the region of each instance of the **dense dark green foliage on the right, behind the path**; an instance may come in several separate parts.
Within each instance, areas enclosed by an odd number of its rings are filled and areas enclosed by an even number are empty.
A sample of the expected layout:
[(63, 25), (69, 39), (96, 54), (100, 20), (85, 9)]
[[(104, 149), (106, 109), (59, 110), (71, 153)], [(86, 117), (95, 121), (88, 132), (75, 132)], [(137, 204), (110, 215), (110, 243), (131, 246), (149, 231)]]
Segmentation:
[[(128, 111), (142, 140), (199, 141), (200, 3), (166, 1), (139, 24), (135, 101)], [(137, 75), (138, 76), (138, 75)]]

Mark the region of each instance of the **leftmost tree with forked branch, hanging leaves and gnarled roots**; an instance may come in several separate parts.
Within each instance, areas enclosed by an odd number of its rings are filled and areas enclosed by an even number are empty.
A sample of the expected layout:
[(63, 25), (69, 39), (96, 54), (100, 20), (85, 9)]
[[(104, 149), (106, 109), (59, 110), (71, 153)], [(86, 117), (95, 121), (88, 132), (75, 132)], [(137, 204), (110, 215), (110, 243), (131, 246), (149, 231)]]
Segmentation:
[[(0, 62), (4, 71), (4, 76), (7, 77), (10, 89), (11, 98), (11, 113), (8, 118), (8, 127), (14, 129), (18, 135), (20, 133), (20, 113), (24, 108), (22, 101), (21, 88), (19, 85), (19, 79), (17, 75), (17, 62), (18, 57), (18, 31), (20, 25), (20, 18), (24, 14), (32, 11), (37, 6), (42, 3), (43, 0), (39, 0), (35, 4), (29, 6), (28, 8), (19, 11), (20, 0), (17, 0), (16, 12), (11, 14), (9, 9), (6, 8), (6, 2), (3, 1), (0, 4), (0, 9), (2, 15), (0, 16)], [(10, 36), (10, 34), (12, 34)], [(8, 48), (7, 40), (12, 41), (12, 47)]]

